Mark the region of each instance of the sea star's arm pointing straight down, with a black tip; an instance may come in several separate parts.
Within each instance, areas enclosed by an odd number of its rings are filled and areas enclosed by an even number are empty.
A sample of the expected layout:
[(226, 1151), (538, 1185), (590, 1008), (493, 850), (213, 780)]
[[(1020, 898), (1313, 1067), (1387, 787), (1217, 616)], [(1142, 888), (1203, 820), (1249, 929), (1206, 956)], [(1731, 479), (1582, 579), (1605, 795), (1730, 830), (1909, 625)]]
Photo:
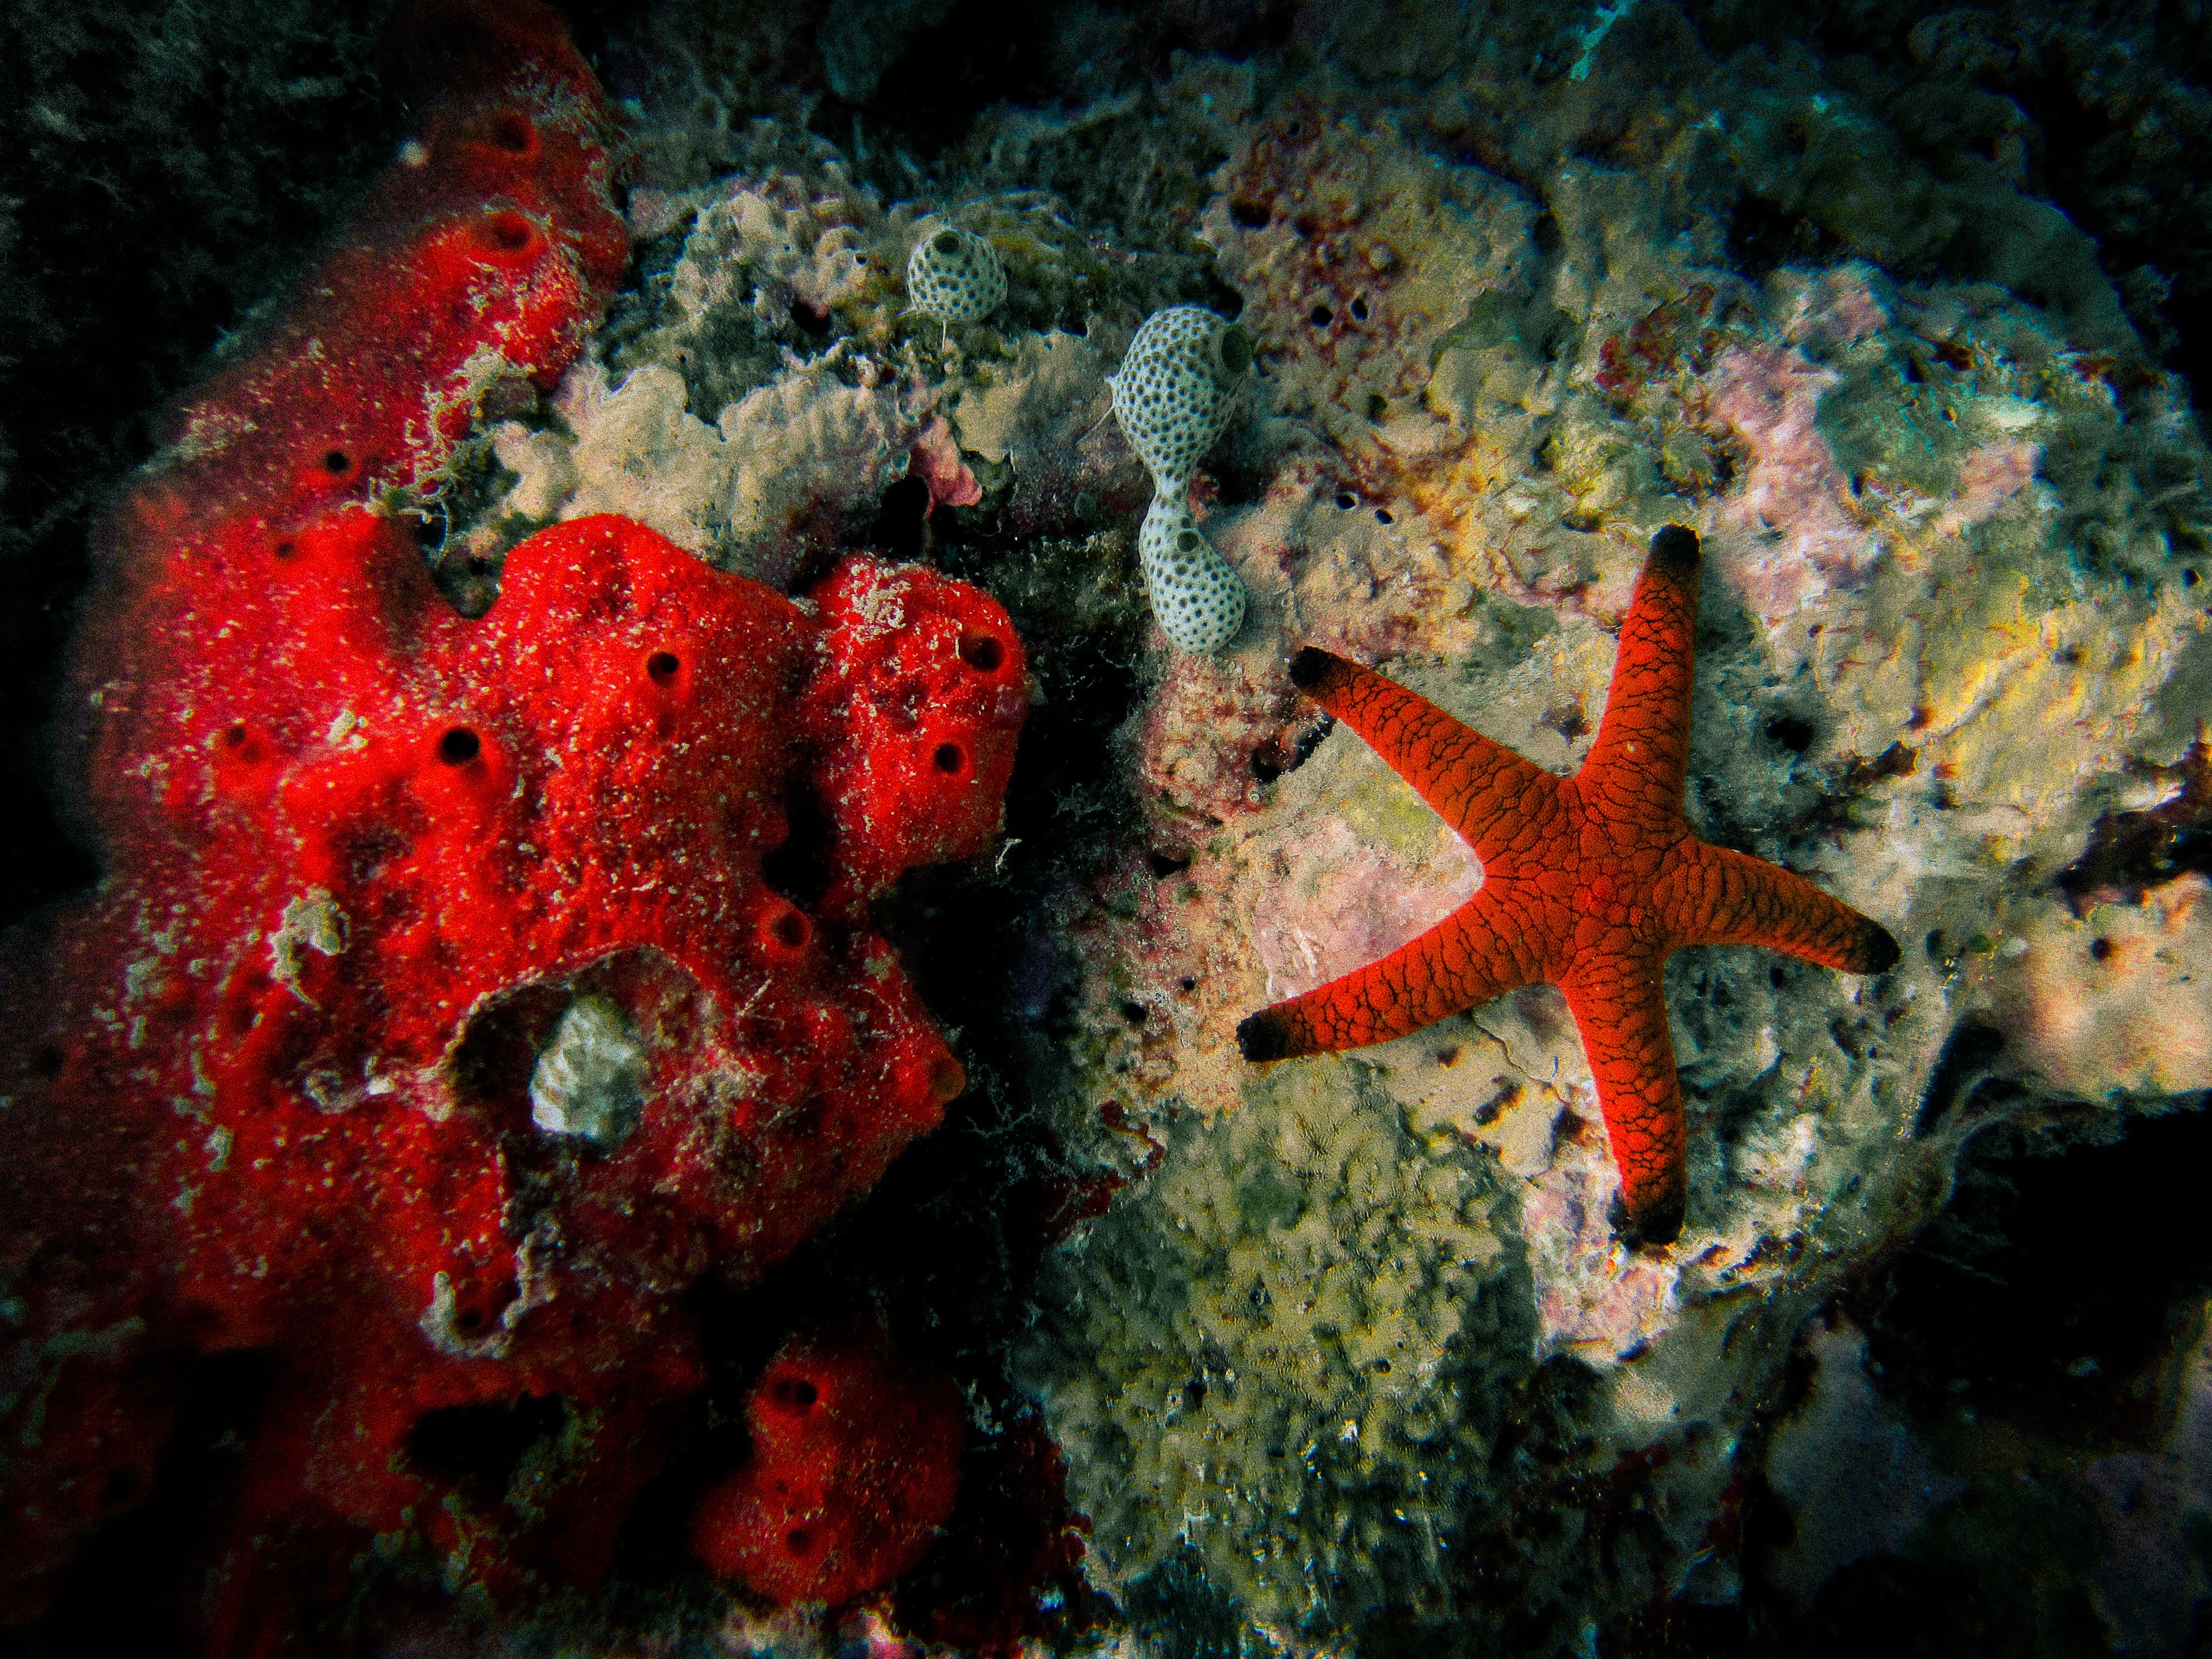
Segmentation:
[(1621, 1172), (1624, 1239), (1668, 1243), (1688, 1206), (1681, 1082), (1666, 1029), (1663, 956), (1604, 958), (1566, 975), (1566, 1006), (1597, 1079), (1597, 1108)]

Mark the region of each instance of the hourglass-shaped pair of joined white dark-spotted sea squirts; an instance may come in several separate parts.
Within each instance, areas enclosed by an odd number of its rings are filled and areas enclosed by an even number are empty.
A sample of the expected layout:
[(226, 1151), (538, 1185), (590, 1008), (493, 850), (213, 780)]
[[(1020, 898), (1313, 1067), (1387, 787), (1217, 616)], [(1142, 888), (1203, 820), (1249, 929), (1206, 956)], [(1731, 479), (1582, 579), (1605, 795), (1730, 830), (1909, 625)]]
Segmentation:
[(1168, 644), (1210, 655), (1243, 626), (1245, 588), (1190, 518), (1199, 458), (1228, 429), (1252, 372), (1252, 336), (1197, 305), (1155, 312), (1113, 376), (1113, 411), (1152, 473), (1137, 533), (1144, 584)]

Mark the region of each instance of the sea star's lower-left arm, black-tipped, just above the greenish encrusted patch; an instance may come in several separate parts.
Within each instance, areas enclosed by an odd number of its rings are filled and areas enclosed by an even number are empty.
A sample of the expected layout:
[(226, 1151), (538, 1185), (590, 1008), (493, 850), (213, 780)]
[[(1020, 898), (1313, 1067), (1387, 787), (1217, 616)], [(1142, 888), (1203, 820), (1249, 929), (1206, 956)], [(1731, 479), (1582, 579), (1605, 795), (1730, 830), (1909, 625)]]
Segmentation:
[(1237, 1026), (1245, 1060), (1290, 1060), (1389, 1042), (1528, 984), (1524, 967), (1475, 894), (1380, 962), (1261, 1009)]

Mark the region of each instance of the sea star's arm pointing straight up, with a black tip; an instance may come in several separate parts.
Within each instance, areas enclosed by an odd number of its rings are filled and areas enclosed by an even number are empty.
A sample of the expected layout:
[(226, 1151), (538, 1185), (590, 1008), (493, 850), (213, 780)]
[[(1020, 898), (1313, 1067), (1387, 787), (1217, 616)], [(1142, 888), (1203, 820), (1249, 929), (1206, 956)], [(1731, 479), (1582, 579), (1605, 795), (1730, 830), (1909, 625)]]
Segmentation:
[(1582, 783), (1608, 818), (1681, 818), (1690, 761), (1690, 670), (1697, 639), (1697, 538), (1668, 524), (1637, 577), (1597, 739)]

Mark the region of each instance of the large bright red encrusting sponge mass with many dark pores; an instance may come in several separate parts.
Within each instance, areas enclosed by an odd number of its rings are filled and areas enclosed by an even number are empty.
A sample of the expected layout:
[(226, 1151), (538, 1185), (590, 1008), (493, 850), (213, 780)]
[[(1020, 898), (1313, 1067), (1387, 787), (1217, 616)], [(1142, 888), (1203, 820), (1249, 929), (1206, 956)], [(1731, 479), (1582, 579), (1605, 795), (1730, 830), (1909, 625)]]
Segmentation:
[[(243, 1352), (210, 1650), (312, 1646), (372, 1562), (595, 1582), (703, 1380), (684, 1292), (757, 1281), (964, 1082), (865, 905), (998, 832), (1004, 611), (865, 557), (794, 604), (584, 518), (458, 615), (374, 502), (551, 385), (624, 232), (551, 13), (436, 13), (411, 62), (420, 142), (102, 540), (106, 880), (0, 969), (4, 1619)], [(513, 1471), (447, 1455), (515, 1409)]]

